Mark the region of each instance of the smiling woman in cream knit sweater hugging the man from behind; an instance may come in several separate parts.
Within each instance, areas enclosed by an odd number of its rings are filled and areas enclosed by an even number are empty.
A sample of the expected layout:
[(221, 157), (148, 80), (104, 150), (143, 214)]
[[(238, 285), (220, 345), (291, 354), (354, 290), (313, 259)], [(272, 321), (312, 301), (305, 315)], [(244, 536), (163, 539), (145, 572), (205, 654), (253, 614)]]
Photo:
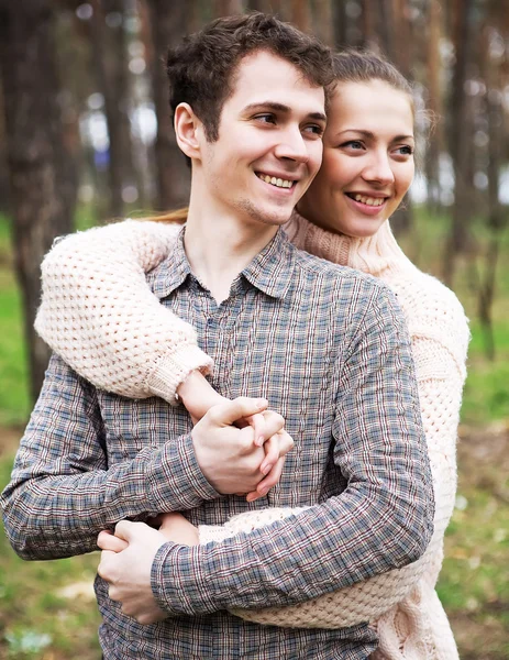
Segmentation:
[[(312, 603), (235, 614), (285, 626), (340, 627), (369, 619), (380, 639), (377, 659), (452, 660), (457, 651), (434, 585), (454, 506), (468, 329), (455, 296), (408, 261), (387, 222), (413, 177), (410, 86), (370, 54), (338, 55), (335, 74), (322, 168), (286, 231), (298, 248), (380, 277), (399, 298), (417, 366), (435, 531), (424, 557), (411, 566)], [(185, 212), (159, 220), (185, 220)], [(200, 418), (221, 398), (202, 375), (211, 362), (196, 345), (192, 329), (147, 294), (143, 273), (167, 255), (176, 231), (175, 224), (128, 221), (60, 242), (43, 265), (36, 328), (97, 386), (132, 397), (158, 395), (170, 403), (178, 393)], [(295, 510), (255, 510), (223, 527), (200, 527), (200, 541), (289, 513)], [(173, 540), (188, 532), (192, 537), (191, 526), (178, 514), (169, 515), (168, 525)]]

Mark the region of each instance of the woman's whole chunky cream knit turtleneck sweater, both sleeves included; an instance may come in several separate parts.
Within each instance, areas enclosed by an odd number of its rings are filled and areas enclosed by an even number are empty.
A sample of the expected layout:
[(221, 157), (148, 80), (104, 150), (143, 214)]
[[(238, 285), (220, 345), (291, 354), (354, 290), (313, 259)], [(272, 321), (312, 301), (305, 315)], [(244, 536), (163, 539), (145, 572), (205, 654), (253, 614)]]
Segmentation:
[[(173, 403), (178, 384), (211, 360), (193, 329), (147, 292), (144, 273), (167, 254), (178, 226), (128, 220), (68, 237), (43, 263), (41, 337), (96, 386)], [(298, 215), (287, 224), (303, 250), (380, 277), (398, 296), (412, 339), (435, 493), (434, 535), (424, 556), (314, 601), (285, 608), (235, 610), (243, 618), (289, 627), (376, 626), (376, 660), (454, 660), (457, 650), (434, 586), (456, 491), (455, 443), (468, 343), (462, 306), (446, 287), (416, 268), (386, 222), (375, 237), (325, 232)], [(298, 509), (300, 510), (300, 509)], [(248, 531), (296, 509), (254, 510), (222, 527), (200, 527), (200, 542)]]

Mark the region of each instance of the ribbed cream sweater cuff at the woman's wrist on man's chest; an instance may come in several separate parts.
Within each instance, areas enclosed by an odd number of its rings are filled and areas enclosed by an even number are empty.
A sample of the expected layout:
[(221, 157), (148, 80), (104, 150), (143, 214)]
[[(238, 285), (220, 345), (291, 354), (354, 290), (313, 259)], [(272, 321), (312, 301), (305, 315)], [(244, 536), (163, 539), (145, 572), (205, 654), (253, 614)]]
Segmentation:
[(171, 405), (177, 405), (177, 387), (195, 370), (203, 375), (212, 372), (213, 361), (193, 344), (185, 344), (164, 355), (146, 380), (150, 392)]

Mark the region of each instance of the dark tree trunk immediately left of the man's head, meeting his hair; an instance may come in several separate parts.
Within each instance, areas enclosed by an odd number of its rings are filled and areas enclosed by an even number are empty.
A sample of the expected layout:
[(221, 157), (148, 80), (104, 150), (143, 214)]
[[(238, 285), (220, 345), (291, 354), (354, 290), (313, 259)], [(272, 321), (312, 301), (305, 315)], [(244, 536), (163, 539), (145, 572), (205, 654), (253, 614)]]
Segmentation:
[(157, 116), (157, 208), (167, 210), (181, 206), (189, 199), (189, 169), (175, 139), (168, 105), (168, 81), (163, 64), (167, 47), (176, 45), (187, 32), (188, 3), (185, 0), (148, 0), (148, 7), (154, 44), (151, 78)]

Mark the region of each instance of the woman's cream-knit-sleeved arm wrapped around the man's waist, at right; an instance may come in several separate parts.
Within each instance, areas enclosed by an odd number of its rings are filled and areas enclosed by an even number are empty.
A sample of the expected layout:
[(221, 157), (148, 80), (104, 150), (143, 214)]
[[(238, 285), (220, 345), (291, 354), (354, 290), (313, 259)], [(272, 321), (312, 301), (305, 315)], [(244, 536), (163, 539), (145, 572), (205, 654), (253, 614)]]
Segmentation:
[[(430, 613), (425, 609), (427, 606), (435, 608), (435, 601), (434, 605), (423, 602), (420, 612), (416, 613), (418, 598), (413, 597), (413, 592), (419, 591), (421, 581), (434, 587), (442, 563), (443, 537), (456, 494), (456, 437), (469, 339), (467, 320), (455, 296), (440, 287), (435, 298), (433, 314), (427, 319), (416, 320), (414, 326), (420, 330), (416, 330), (418, 336), (412, 338), (419, 400), (435, 497), (434, 532), (424, 556), (403, 569), (377, 575), (310, 602), (283, 608), (233, 610), (237, 616), (267, 625), (324, 628), (378, 619), (380, 649), (377, 651), (377, 660), (394, 657), (390, 649), (394, 648), (394, 636), (397, 635), (395, 620), (398, 613), (413, 608), (413, 617), (418, 614), (421, 626), (428, 626), (428, 634), (433, 635)], [(200, 526), (200, 542), (221, 541), (295, 513), (296, 509), (267, 509), (235, 516), (224, 526)], [(411, 626), (409, 630), (407, 636), (411, 634)], [(442, 644), (446, 641), (445, 639)]]

